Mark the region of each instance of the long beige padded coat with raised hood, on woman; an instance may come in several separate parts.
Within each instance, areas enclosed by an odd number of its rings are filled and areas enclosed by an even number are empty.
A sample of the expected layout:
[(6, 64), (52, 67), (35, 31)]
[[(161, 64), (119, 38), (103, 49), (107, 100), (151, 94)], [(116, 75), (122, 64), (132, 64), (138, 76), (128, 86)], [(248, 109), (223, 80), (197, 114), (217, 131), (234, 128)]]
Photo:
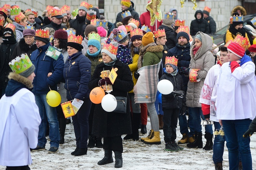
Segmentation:
[(193, 54), (193, 49), (195, 48), (195, 38), (192, 41), (192, 46), (190, 48), (190, 64), (189, 64), (189, 73), (191, 69), (200, 69), (197, 72), (197, 78), (201, 80), (199, 82), (190, 82), (188, 81), (187, 85), (187, 95), (186, 95), (186, 104), (188, 107), (201, 107), (201, 103), (199, 103), (201, 89), (203, 87), (204, 79), (207, 75), (207, 72), (214, 65), (214, 56), (211, 53), (212, 49), (212, 38), (204, 34), (202, 32), (198, 32), (197, 34), (201, 35), (202, 38), (202, 46), (198, 49), (196, 54)]

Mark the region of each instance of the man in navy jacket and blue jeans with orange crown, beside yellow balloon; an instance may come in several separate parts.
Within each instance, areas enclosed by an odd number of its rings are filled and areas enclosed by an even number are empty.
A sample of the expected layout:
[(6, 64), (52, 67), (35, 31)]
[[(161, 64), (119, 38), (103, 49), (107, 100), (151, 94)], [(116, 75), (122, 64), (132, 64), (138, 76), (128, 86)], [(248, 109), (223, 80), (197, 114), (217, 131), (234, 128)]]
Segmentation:
[[(41, 30), (40, 30), (41, 31)], [(39, 30), (38, 30), (39, 32)], [(36, 32), (35, 41), (38, 47), (33, 51), (30, 57), (31, 62), (35, 66), (34, 73), (37, 77), (33, 81), (33, 94), (35, 95), (35, 103), (38, 105), (39, 113), (42, 122), (39, 126), (38, 145), (37, 148), (31, 149), (31, 151), (45, 150), (45, 144), (47, 142), (45, 138), (46, 134), (46, 119), (49, 122), (49, 137), (51, 139), (48, 153), (56, 153), (59, 148), (59, 122), (56, 112), (56, 107), (51, 107), (46, 102), (46, 95), (52, 90), (57, 91), (57, 84), (63, 79), (63, 55), (52, 55), (51, 57), (46, 55), (49, 43), (49, 30), (42, 30), (42, 33)], [(47, 35), (47, 37), (45, 37)]]

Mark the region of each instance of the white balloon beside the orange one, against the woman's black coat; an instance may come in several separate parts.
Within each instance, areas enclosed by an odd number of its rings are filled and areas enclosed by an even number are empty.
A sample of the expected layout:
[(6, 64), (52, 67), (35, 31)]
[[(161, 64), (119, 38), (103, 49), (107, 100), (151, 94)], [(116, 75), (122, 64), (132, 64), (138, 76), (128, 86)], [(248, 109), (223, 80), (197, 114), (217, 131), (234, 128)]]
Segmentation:
[(102, 98), (101, 106), (106, 112), (113, 112), (116, 109), (117, 101), (116, 98), (111, 95), (107, 94)]

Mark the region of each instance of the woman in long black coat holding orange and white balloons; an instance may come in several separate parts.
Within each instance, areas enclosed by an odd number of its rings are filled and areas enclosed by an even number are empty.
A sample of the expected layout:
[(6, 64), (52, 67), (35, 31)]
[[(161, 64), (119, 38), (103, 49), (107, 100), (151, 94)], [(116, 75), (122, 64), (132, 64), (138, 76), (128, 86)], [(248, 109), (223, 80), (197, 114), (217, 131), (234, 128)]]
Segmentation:
[[(111, 48), (109, 48), (111, 46)], [(109, 49), (112, 49), (108, 51)], [(115, 50), (115, 52), (114, 52)], [(115, 97), (127, 97), (128, 92), (133, 88), (131, 71), (128, 65), (116, 58), (117, 47), (112, 44), (104, 44), (101, 50), (103, 63), (96, 66), (93, 77), (89, 83), (89, 88), (93, 89), (100, 85), (112, 84), (109, 78), (101, 79), (101, 71), (115, 69), (117, 78), (112, 85), (111, 95)], [(129, 101), (129, 100), (127, 100)], [(115, 153), (115, 168), (123, 166), (123, 134), (131, 134), (130, 106), (127, 102), (126, 113), (106, 112), (101, 104), (96, 104), (93, 117), (92, 134), (103, 137), (104, 158), (98, 165), (105, 165), (113, 162), (112, 151)]]

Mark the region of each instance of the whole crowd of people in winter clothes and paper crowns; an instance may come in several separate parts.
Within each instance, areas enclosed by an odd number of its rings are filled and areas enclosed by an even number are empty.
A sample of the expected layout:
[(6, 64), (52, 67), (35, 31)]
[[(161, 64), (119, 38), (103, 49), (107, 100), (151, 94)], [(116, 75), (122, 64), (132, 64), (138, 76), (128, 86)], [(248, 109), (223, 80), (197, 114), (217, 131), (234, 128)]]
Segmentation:
[[(121, 0), (121, 8), (115, 23), (87, 2), (73, 12), (68, 5), (48, 5), (42, 17), (16, 4), (0, 8), (0, 165), (29, 169), (30, 151), (46, 150), (47, 135), (48, 153), (65, 143), (62, 107), (47, 101), (55, 90), (61, 103), (81, 103), (72, 116), (76, 148), (71, 155), (103, 148), (98, 165), (113, 163), (114, 152), (115, 168), (121, 168), (123, 140), (138, 141), (139, 129), (147, 134), (149, 116), (148, 135), (140, 139), (144, 144), (160, 145), (162, 129), (166, 151), (183, 150), (185, 143), (213, 149), (215, 169), (221, 170), (226, 141), (229, 168), (252, 169), (248, 136), (256, 132), (256, 18), (243, 26), (246, 11), (234, 7), (225, 45), (216, 46), (208, 35), (216, 32), (210, 7), (196, 11), (190, 29), (175, 8), (153, 26), (150, 12), (139, 16), (130, 0)], [(114, 82), (106, 72), (112, 69)], [(169, 94), (157, 89), (164, 80), (173, 85)], [(92, 103), (96, 87), (127, 99), (125, 113)], [(176, 142), (178, 120), (183, 137)], [(213, 133), (212, 124), (225, 136)], [(16, 147), (20, 143), (23, 147)]]

